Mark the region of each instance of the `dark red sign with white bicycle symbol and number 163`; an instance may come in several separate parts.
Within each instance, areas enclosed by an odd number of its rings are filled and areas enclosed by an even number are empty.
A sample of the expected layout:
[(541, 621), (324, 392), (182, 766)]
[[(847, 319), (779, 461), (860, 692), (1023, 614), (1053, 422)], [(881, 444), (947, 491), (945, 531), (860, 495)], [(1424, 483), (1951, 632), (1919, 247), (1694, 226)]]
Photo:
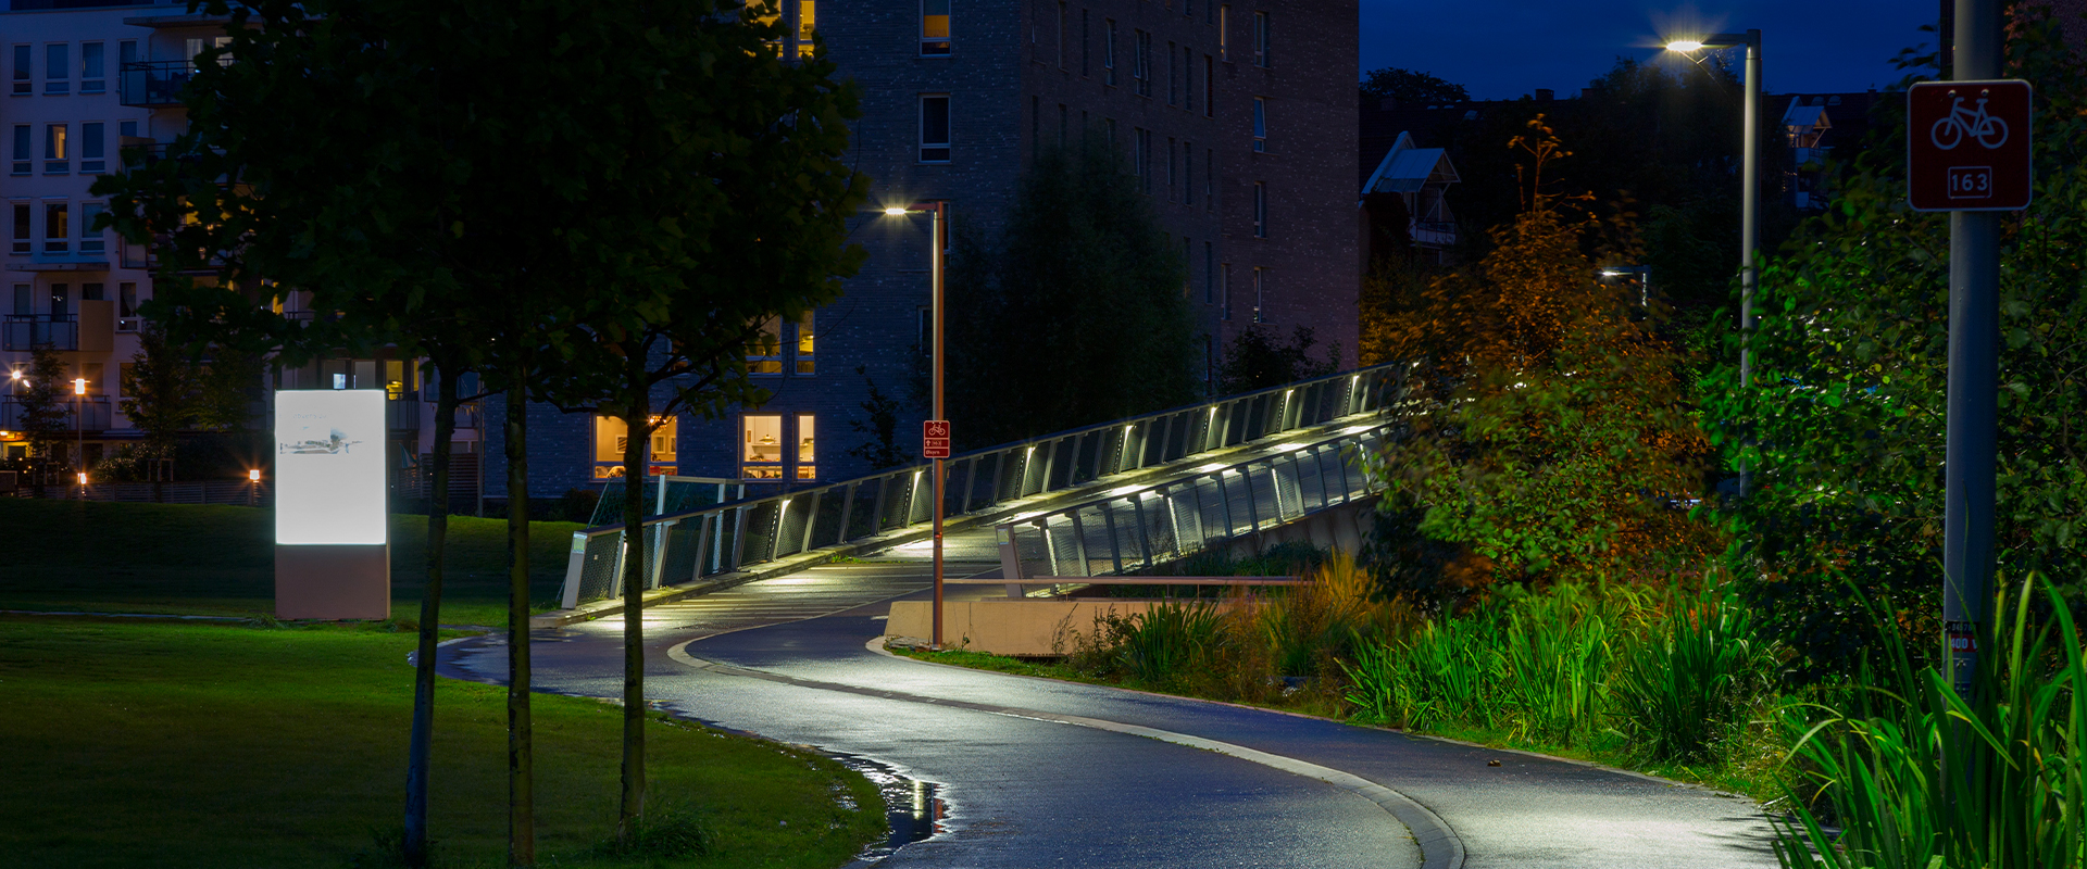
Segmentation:
[(1905, 198), (1914, 210), (2029, 208), (2029, 81), (1916, 83), (1905, 94)]

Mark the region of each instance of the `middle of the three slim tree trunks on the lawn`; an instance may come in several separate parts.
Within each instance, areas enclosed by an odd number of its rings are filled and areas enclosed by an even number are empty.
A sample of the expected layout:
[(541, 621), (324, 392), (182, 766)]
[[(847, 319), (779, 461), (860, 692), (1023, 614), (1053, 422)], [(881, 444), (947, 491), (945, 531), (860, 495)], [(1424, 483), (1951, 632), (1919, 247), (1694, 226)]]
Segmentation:
[(507, 865), (536, 865), (536, 794), (528, 717), (528, 371), (507, 388)]

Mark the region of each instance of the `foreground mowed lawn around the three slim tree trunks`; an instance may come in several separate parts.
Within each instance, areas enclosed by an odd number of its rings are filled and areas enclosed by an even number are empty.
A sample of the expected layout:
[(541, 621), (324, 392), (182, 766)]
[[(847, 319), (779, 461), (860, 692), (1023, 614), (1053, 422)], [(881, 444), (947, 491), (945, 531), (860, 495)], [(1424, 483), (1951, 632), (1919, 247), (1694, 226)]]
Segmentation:
[[(401, 825), (411, 648), (371, 625), (0, 617), (0, 867), (374, 865)], [(616, 819), (622, 711), (532, 704), (541, 863), (618, 865), (589, 850)], [(438, 865), (503, 865), (505, 692), (440, 679), (434, 734)], [(670, 719), (647, 742), (651, 804), (714, 834), (651, 865), (826, 869), (885, 827), (822, 756)]]

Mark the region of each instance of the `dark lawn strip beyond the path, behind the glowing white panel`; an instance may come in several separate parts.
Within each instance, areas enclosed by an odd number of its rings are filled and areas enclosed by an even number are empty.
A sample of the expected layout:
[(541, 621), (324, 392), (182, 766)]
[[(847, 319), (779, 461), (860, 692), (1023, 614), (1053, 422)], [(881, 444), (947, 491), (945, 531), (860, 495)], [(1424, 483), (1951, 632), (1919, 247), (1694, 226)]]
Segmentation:
[[(0, 609), (273, 615), (275, 513), (0, 498)], [(576, 523), (530, 523), (530, 609), (557, 604)], [(428, 517), (392, 515), (392, 617), (419, 619)], [(442, 623), (507, 623), (507, 521), (451, 517)]]

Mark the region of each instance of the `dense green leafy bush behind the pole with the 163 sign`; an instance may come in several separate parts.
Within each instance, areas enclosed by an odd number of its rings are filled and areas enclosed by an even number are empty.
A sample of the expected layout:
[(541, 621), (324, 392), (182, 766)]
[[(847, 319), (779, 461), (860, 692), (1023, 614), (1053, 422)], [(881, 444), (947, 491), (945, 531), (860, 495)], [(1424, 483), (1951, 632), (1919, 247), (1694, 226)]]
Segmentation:
[[(2052, 40), (2047, 21), (2010, 40), (2039, 88), (2037, 192), (2001, 229), (1995, 561), (2070, 594), (2087, 579), (2087, 75)], [(1949, 231), (1903, 202), (1901, 127), (1761, 269), (1753, 390), (1730, 365), (1703, 386), (1726, 467), (1753, 471), (1726, 515), (1730, 567), (1803, 679), (1880, 648), (1851, 592), (1910, 634), (1939, 627)]]

